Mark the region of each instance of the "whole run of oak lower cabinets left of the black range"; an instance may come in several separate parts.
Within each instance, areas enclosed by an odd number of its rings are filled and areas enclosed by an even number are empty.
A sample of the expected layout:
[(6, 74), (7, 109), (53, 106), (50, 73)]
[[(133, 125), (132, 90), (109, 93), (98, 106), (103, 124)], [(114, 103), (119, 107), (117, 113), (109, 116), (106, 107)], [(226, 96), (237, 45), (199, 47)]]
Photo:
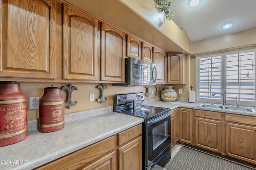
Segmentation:
[(141, 135), (142, 125), (136, 125), (35, 169), (142, 170)]

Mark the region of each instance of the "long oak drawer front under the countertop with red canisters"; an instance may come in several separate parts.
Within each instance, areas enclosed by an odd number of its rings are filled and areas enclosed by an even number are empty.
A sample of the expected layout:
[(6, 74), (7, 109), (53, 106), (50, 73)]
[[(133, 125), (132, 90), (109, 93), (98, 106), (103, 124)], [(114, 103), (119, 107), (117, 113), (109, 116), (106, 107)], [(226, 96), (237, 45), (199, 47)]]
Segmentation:
[(103, 141), (95, 143), (84, 149), (80, 149), (72, 154), (68, 154), (53, 162), (43, 165), (36, 170), (63, 170), (63, 169), (78, 169), (88, 165), (94, 160), (105, 156), (106, 154), (114, 151), (115, 137), (109, 137)]

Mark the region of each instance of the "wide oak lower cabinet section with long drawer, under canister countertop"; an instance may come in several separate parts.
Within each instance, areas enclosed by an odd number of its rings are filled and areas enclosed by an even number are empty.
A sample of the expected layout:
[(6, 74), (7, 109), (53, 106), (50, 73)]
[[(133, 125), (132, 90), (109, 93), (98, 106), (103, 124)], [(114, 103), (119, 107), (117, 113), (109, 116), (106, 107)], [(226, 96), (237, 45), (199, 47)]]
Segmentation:
[[(48, 164), (45, 164), (37, 170), (63, 170), (63, 169), (86, 169), (91, 170), (92, 167), (111, 167), (115, 168), (115, 137), (109, 137), (80, 149), (72, 154), (68, 154), (62, 158), (54, 160)], [(109, 156), (111, 154), (111, 156)], [(108, 164), (108, 165), (107, 165)], [(90, 168), (91, 167), (91, 168)], [(97, 168), (96, 168), (97, 169)], [(100, 168), (102, 169), (102, 168)]]

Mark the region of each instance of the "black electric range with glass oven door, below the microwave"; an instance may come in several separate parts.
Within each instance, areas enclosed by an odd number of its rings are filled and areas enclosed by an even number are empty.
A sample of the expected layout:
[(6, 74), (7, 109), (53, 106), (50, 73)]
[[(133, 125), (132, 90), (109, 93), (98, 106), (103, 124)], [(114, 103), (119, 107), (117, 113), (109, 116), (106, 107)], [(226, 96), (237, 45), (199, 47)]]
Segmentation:
[(144, 106), (143, 93), (118, 94), (113, 110), (142, 117), (142, 170), (162, 168), (171, 158), (171, 117), (169, 108)]

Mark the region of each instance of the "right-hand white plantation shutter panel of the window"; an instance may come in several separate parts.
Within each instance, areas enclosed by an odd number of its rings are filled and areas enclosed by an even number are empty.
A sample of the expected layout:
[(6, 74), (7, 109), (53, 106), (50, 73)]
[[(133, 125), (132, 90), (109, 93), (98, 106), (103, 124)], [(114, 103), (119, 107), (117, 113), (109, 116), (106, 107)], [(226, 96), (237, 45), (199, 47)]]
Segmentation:
[(254, 51), (226, 55), (227, 100), (255, 101)]

